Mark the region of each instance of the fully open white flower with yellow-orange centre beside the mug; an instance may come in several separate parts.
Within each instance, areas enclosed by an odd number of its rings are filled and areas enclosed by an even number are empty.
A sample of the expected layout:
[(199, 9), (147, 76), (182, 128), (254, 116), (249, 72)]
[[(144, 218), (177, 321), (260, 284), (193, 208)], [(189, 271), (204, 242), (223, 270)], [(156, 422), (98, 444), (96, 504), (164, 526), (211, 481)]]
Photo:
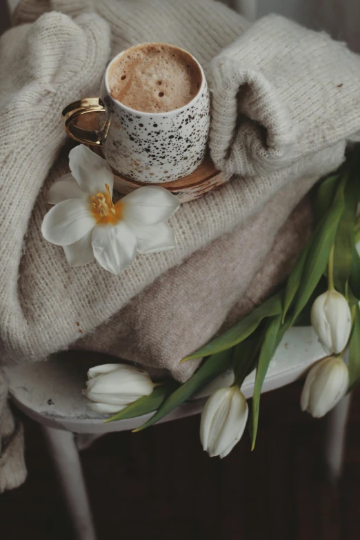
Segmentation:
[(177, 246), (174, 230), (166, 223), (179, 200), (159, 186), (143, 186), (112, 202), (114, 177), (105, 159), (87, 146), (69, 154), (71, 174), (50, 188), (54, 204), (43, 219), (43, 237), (62, 246), (70, 266), (98, 263), (119, 274), (141, 254)]

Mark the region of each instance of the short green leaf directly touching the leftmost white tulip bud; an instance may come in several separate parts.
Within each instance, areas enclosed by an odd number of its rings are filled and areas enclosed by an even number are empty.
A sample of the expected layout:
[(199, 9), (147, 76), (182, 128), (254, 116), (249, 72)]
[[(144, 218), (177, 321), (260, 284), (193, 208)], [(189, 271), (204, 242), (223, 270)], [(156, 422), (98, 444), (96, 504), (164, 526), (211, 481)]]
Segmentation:
[(113, 417), (106, 419), (105, 422), (141, 417), (143, 414), (154, 412), (154, 410), (157, 410), (161, 406), (161, 403), (163, 403), (174, 390), (179, 388), (179, 386), (180, 383), (174, 380), (159, 384), (159, 386), (155, 386), (151, 394), (139, 397), (139, 399), (130, 403), (125, 409), (120, 410), (114, 414)]

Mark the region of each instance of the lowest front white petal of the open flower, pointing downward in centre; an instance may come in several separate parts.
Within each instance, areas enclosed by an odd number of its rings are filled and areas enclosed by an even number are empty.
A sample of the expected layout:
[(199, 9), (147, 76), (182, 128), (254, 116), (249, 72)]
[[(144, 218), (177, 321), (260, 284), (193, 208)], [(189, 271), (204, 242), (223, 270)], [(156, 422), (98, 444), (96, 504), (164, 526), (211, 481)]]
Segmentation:
[(111, 272), (120, 274), (134, 260), (137, 239), (123, 221), (117, 225), (99, 225), (92, 233), (92, 249), (98, 263)]

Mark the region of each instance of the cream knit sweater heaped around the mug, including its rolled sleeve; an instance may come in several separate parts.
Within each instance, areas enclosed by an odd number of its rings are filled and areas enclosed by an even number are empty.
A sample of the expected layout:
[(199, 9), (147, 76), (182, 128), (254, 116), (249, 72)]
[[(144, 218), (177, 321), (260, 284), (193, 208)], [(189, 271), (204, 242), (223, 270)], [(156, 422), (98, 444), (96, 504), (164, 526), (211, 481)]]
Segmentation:
[[(51, 10), (63, 14), (51, 12), (39, 17), (41, 12)], [(276, 226), (272, 221), (271, 242), (314, 177), (341, 163), (346, 139), (360, 128), (357, 56), (344, 46), (334, 46), (334, 54), (330, 47), (334, 42), (328, 38), (326, 47), (322, 47), (322, 34), (314, 34), (310, 40), (310, 54), (309, 32), (298, 26), (294, 54), (294, 26), (279, 17), (268, 19), (268, 23), (260, 21), (247, 30), (248, 23), (242, 17), (212, 0), (26, 0), (15, 19), (34, 23), (17, 26), (0, 40), (3, 361), (37, 360), (68, 348), (79, 337), (78, 322), (84, 334), (94, 335), (160, 274), (245, 222), (290, 181), (311, 177), (298, 185), (291, 203), (285, 203), (289, 206), (281, 214), (282, 219), (275, 220)], [(257, 48), (247, 49), (246, 63), (250, 68), (257, 66), (257, 74), (243, 79), (239, 77), (243, 69), (239, 61), (247, 35)], [(239, 36), (242, 41), (235, 41)], [(190, 50), (203, 64), (212, 87), (212, 157), (221, 168), (241, 172), (243, 177), (181, 207), (172, 219), (179, 239), (176, 250), (137, 257), (117, 277), (95, 264), (69, 268), (61, 248), (43, 241), (40, 232), (49, 208), (48, 188), (66, 172), (64, 159), (54, 163), (65, 140), (60, 112), (70, 101), (97, 93), (112, 54), (143, 41), (177, 44)], [(233, 42), (228, 52), (209, 63)], [(272, 50), (281, 47), (283, 54), (276, 57), (275, 70)], [(312, 54), (321, 57), (320, 63), (309, 63)], [(288, 79), (282, 77), (287, 63), (294, 59), (297, 70)], [(334, 86), (328, 86), (330, 72), (334, 81), (339, 81)], [(321, 80), (326, 81), (325, 90)], [(348, 88), (346, 92), (339, 93), (341, 84)], [(337, 103), (338, 109), (328, 108), (326, 103)], [(314, 114), (326, 126), (326, 130), (319, 130), (320, 141), (318, 123), (312, 122)], [(279, 200), (270, 210), (270, 217), (281, 208)], [(247, 246), (255, 249), (253, 237)], [(252, 272), (258, 266), (259, 261)], [(204, 283), (208, 286), (206, 277)], [(116, 328), (112, 326), (112, 335)], [(191, 352), (194, 343), (188, 347), (184, 354)], [(169, 366), (164, 362), (163, 367)], [(179, 379), (190, 374), (176, 369), (173, 372)]]

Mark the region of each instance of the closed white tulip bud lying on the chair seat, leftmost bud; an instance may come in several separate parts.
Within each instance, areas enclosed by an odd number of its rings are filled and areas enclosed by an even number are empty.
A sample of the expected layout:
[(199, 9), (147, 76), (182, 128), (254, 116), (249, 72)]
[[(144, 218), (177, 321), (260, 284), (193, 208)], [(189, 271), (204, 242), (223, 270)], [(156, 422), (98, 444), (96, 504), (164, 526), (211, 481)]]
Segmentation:
[(107, 363), (88, 370), (83, 394), (93, 401), (88, 407), (101, 414), (112, 414), (129, 403), (148, 396), (154, 383), (146, 371), (121, 363)]

